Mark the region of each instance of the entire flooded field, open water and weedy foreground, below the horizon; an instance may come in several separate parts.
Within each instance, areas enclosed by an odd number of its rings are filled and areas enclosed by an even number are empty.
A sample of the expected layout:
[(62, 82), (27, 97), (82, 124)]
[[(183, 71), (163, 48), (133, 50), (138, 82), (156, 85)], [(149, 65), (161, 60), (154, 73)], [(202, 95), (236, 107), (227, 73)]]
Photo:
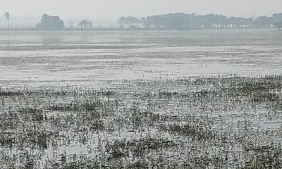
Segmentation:
[(0, 167), (282, 168), (281, 40), (0, 32)]

